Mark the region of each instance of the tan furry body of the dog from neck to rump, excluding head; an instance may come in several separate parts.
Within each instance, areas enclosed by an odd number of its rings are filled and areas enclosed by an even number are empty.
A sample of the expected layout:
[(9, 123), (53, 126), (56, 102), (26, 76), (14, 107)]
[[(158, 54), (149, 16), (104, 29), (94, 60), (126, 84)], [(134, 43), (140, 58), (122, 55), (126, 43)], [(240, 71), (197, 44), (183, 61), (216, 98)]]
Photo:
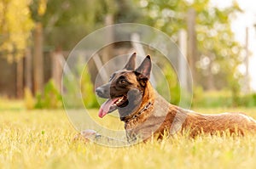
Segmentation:
[[(147, 140), (152, 133), (154, 137), (162, 138), (165, 131), (169, 131), (170, 134), (189, 132), (191, 138), (195, 138), (201, 133), (244, 135), (247, 132), (256, 132), (256, 121), (250, 116), (241, 113), (203, 115), (191, 110), (183, 110), (176, 105), (167, 103), (160, 94), (154, 91), (150, 82), (145, 88), (143, 103), (139, 110), (148, 101), (152, 102), (154, 106), (145, 110), (136, 119), (125, 122), (128, 138), (140, 136), (143, 140)], [(139, 110), (132, 115), (136, 115)]]

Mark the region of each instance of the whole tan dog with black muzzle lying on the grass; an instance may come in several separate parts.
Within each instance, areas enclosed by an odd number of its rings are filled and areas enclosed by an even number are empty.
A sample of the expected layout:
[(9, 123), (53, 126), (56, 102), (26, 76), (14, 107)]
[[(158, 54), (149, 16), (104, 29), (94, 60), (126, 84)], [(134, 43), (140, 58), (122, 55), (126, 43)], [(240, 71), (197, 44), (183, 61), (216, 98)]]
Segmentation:
[(122, 70), (115, 71), (109, 82), (96, 88), (96, 94), (108, 99), (102, 104), (99, 116), (102, 118), (113, 110), (119, 111), (119, 118), (125, 122), (128, 140), (162, 138), (164, 132), (189, 133), (189, 137), (206, 134), (244, 135), (256, 132), (256, 121), (241, 113), (203, 115), (184, 110), (168, 103), (149, 82), (152, 63), (148, 55), (136, 69), (136, 53), (132, 54)]

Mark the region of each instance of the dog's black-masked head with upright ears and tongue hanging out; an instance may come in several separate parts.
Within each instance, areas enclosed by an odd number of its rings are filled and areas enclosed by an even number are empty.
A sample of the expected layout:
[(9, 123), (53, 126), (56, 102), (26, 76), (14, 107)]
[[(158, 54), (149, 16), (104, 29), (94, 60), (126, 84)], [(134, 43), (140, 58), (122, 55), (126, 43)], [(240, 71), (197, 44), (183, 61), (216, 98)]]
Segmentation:
[(101, 118), (118, 109), (122, 120), (139, 108), (150, 77), (150, 56), (137, 69), (135, 67), (136, 53), (131, 55), (122, 70), (113, 72), (107, 84), (96, 88), (99, 97), (108, 99), (99, 111)]

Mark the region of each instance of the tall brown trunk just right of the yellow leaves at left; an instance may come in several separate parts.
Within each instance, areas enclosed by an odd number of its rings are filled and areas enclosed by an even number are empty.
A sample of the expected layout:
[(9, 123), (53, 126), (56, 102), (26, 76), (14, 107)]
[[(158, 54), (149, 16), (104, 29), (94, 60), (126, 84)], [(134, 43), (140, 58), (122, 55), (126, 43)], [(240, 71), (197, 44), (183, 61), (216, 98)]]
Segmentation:
[(33, 73), (34, 92), (42, 93), (44, 87), (43, 26), (39, 22), (36, 23), (34, 31)]

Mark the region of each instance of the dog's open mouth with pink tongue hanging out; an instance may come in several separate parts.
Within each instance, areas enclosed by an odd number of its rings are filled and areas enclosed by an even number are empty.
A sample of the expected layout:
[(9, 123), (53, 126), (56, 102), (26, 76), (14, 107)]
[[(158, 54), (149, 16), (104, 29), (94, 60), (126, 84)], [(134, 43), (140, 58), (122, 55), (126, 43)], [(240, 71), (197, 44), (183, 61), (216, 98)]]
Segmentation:
[(127, 104), (127, 96), (120, 96), (118, 98), (114, 99), (108, 99), (106, 102), (104, 102), (99, 110), (99, 117), (103, 117), (107, 115), (108, 113), (113, 112), (114, 110), (117, 110), (118, 107), (124, 107)]

